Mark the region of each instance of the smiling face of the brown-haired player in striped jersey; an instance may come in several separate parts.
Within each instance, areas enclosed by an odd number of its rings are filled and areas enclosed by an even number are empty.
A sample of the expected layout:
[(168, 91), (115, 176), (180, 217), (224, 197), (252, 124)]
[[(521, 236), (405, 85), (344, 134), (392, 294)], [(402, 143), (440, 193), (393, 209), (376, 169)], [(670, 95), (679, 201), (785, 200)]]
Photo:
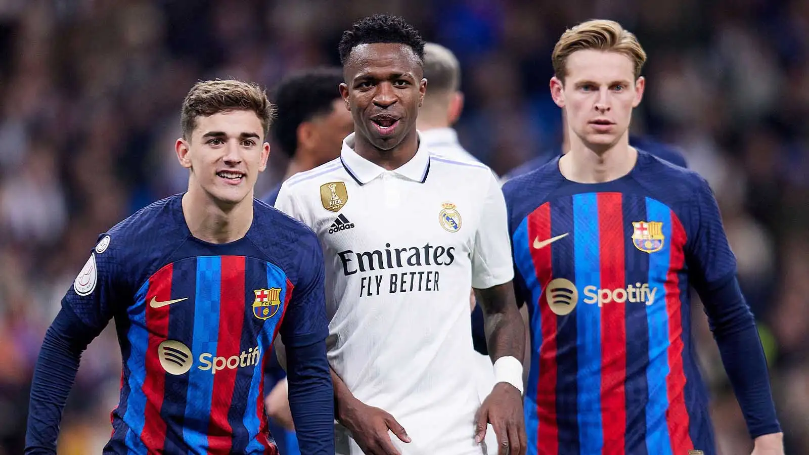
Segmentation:
[(176, 142), (177, 158), (191, 171), (188, 191), (201, 191), (219, 206), (252, 200), (258, 174), (267, 167), (269, 144), (252, 110), (227, 110), (196, 118), (188, 139)]

